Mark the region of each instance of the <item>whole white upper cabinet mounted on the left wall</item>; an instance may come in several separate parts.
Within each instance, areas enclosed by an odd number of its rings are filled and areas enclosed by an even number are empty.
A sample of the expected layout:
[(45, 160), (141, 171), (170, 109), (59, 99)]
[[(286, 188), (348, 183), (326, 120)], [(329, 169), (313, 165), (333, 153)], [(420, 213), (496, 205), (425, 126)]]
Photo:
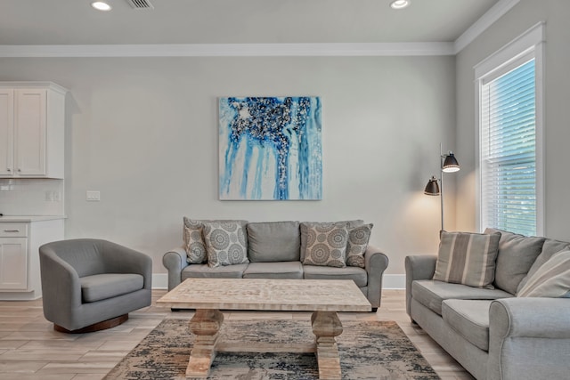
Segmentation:
[(63, 178), (65, 90), (0, 82), (0, 177)]

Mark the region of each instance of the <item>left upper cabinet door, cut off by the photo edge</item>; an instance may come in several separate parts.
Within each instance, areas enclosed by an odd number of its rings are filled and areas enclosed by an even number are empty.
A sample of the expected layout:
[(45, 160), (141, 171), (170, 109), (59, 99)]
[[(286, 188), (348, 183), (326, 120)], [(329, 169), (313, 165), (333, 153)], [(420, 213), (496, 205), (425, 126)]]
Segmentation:
[(13, 174), (14, 92), (0, 89), (0, 176)]

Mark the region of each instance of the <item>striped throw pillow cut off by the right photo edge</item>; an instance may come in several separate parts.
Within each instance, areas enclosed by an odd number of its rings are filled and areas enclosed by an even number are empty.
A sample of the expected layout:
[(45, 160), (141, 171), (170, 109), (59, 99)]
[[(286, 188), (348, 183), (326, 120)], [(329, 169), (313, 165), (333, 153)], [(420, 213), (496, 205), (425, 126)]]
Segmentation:
[(570, 251), (552, 255), (520, 288), (517, 297), (570, 297)]

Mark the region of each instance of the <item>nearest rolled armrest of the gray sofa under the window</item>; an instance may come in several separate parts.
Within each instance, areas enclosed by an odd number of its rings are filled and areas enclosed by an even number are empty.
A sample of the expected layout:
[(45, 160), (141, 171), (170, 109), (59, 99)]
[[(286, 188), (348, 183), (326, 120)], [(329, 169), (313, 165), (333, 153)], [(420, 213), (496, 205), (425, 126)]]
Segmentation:
[(570, 373), (570, 299), (507, 298), (489, 310), (493, 379), (566, 378)]

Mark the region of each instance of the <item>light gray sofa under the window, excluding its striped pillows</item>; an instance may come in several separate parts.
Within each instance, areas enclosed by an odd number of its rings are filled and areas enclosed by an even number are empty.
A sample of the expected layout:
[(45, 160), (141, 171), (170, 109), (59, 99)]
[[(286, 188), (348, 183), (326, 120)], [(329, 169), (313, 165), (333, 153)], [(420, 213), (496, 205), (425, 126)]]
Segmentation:
[(406, 311), (477, 379), (570, 376), (570, 299), (517, 297), (570, 243), (501, 232), (494, 289), (432, 279), (434, 255), (405, 259)]

